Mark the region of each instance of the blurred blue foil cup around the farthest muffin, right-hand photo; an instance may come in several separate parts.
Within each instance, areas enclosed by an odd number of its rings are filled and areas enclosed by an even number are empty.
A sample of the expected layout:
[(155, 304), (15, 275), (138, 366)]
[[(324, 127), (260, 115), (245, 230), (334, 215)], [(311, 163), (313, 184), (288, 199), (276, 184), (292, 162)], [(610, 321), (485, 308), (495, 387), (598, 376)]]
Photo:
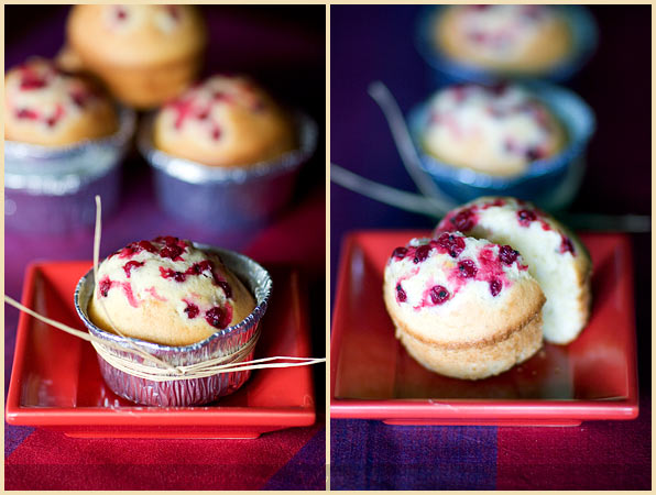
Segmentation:
[(559, 64), (544, 73), (520, 75), (503, 74), (453, 61), (436, 46), (433, 38), (435, 22), (448, 6), (434, 6), (422, 9), (417, 19), (415, 45), (424, 61), (434, 69), (434, 78), (438, 86), (455, 82), (472, 81), (494, 84), (500, 79), (547, 79), (562, 82), (571, 79), (597, 50), (598, 29), (589, 10), (581, 6), (551, 6), (559, 9), (565, 22), (572, 33), (570, 54)]

